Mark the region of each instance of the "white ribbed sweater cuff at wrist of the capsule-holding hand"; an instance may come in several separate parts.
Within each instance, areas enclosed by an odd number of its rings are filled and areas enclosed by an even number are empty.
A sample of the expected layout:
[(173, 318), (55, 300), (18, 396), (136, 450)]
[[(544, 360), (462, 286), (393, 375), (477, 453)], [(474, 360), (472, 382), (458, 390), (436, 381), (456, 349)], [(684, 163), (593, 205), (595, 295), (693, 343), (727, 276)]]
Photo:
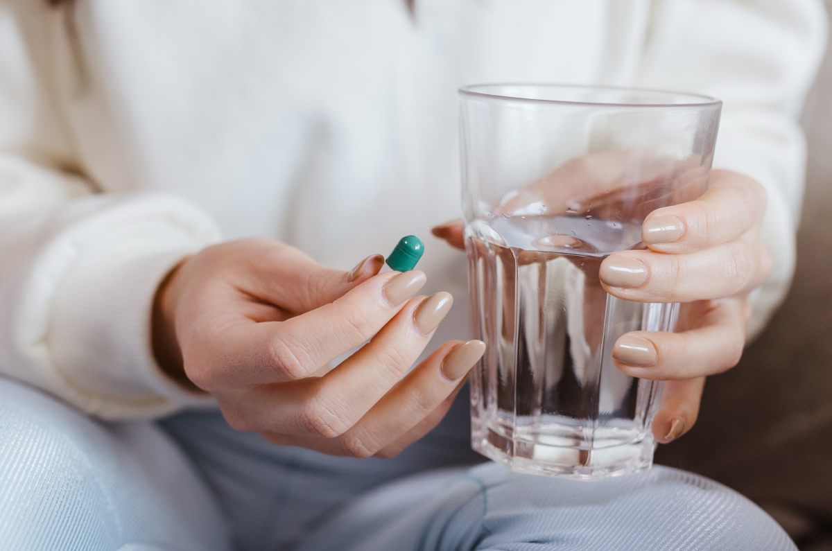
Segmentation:
[(167, 377), (152, 352), (156, 288), (178, 262), (218, 234), (206, 224), (181, 224), (181, 215), (122, 219), (95, 240), (87, 234), (72, 244), (72, 261), (53, 297), (47, 348), (63, 385), (87, 413), (156, 418), (215, 404), (210, 395)]

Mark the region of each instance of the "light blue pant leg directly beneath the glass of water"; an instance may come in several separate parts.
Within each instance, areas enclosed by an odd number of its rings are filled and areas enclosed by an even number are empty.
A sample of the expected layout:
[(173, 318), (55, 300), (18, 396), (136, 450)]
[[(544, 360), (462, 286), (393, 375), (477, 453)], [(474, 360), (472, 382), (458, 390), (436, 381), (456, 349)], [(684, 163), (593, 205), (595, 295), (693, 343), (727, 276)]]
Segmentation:
[(656, 467), (600, 482), (497, 464), (384, 484), (310, 530), (296, 551), (792, 551), (762, 509), (700, 476)]

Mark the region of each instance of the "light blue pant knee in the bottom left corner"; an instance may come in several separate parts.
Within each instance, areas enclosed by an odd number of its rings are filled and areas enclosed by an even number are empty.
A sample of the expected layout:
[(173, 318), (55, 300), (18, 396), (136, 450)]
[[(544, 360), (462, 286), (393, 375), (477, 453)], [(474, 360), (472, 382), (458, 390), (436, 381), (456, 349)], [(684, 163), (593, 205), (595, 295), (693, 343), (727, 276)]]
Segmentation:
[(98, 423), (0, 378), (0, 549), (230, 544), (205, 484), (158, 427)]

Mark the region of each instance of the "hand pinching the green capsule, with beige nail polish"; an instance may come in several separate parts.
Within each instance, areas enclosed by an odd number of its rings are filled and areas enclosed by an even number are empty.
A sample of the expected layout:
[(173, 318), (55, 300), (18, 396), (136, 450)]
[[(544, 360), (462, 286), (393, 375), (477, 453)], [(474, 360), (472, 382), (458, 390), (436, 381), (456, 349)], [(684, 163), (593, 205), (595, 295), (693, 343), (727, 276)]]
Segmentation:
[(160, 285), (156, 357), (174, 379), (214, 395), (235, 429), (392, 457), (443, 418), (485, 345), (446, 342), (409, 371), (453, 299), (416, 296), (423, 272), (377, 275), (382, 263), (369, 256), (345, 273), (277, 241), (208, 247)]

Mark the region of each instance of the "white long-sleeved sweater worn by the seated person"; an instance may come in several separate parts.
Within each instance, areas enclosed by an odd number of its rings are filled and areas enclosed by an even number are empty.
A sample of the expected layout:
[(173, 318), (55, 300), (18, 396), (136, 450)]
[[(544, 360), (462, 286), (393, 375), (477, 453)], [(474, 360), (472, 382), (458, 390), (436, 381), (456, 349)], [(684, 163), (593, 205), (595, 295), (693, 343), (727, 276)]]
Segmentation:
[[(770, 192), (795, 261), (795, 118), (825, 44), (819, 0), (0, 0), (0, 372), (107, 419), (206, 403), (150, 348), (178, 259), (272, 236), (344, 269), (458, 216), (457, 97), (581, 82), (725, 101), (715, 166)], [(458, 299), (463, 257), (420, 266)]]

